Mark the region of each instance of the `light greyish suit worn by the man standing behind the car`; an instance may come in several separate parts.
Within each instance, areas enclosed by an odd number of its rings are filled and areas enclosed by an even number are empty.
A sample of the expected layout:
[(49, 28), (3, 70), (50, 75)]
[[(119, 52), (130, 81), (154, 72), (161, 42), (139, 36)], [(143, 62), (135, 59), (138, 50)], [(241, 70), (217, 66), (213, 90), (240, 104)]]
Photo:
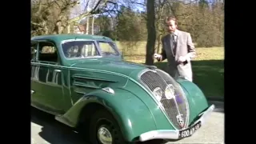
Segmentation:
[[(186, 62), (178, 64), (180, 56), (186, 57)], [(162, 61), (167, 58), (169, 73), (172, 77), (182, 77), (192, 81), (193, 74), (190, 59), (194, 57), (195, 49), (190, 33), (181, 30), (177, 31), (175, 55), (170, 34), (162, 38)]]

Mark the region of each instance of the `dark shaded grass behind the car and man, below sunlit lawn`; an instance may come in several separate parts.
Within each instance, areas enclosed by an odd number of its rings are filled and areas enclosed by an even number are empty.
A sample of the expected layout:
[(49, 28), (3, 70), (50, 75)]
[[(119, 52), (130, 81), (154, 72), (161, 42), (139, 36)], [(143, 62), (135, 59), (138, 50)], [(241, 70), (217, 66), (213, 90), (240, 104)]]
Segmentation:
[[(167, 62), (156, 62), (159, 69), (167, 69)], [(192, 61), (193, 79), (206, 97), (224, 97), (224, 60)]]

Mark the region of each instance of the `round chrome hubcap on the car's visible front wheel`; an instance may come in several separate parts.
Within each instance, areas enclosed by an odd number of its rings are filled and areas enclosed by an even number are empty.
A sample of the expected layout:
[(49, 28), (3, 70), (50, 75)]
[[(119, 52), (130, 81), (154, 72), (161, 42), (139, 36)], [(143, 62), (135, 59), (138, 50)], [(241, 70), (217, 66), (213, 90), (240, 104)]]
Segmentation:
[(102, 142), (102, 144), (111, 144), (112, 143), (112, 136), (110, 131), (106, 129), (106, 127), (101, 126), (98, 129), (98, 140)]

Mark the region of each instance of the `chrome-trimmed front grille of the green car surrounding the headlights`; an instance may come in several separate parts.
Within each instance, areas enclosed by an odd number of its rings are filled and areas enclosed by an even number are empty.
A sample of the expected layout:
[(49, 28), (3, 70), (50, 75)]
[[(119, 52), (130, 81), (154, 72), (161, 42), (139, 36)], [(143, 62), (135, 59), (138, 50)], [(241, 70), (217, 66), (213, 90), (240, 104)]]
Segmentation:
[[(162, 90), (162, 98), (160, 103), (166, 112), (166, 115), (177, 129), (182, 129), (187, 126), (189, 110), (186, 101), (186, 96), (182, 91), (182, 88), (178, 86), (178, 82), (175, 82), (173, 78), (170, 78), (169, 74), (166, 74), (162, 70), (148, 70), (141, 75), (142, 84), (146, 85), (152, 92), (155, 88), (159, 87)], [(166, 86), (172, 84), (174, 86), (175, 98), (166, 98), (164, 93)], [(178, 115), (182, 114), (182, 122), (178, 122)]]

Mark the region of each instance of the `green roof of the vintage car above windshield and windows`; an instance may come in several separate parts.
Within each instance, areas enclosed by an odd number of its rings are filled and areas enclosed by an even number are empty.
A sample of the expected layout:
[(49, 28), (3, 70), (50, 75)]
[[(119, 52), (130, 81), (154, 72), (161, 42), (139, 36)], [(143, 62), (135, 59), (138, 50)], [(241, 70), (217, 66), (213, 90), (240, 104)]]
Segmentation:
[(75, 39), (75, 38), (112, 41), (110, 38), (107, 38), (105, 36), (102, 36), (102, 35), (92, 35), (92, 34), (52, 34), (52, 35), (40, 35), (40, 36), (32, 37), (31, 40), (50, 39), (50, 40), (53, 40), (55, 42), (60, 42), (62, 40)]

